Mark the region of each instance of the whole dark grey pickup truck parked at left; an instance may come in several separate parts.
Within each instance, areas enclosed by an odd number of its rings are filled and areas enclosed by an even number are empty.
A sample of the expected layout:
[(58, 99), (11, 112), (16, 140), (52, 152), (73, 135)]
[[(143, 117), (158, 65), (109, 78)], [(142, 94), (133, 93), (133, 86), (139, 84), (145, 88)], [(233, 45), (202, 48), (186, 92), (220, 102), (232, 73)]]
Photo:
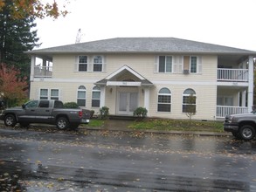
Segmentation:
[(31, 100), (22, 106), (3, 110), (0, 120), (7, 127), (19, 123), (28, 127), (31, 123), (56, 125), (59, 129), (76, 129), (90, 121), (90, 111), (65, 108), (60, 100)]

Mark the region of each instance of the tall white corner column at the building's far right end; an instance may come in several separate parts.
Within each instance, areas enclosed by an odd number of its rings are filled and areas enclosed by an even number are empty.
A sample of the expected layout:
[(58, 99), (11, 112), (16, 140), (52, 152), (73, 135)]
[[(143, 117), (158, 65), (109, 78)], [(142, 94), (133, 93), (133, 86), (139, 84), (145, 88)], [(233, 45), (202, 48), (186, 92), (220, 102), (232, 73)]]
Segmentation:
[(248, 79), (249, 86), (248, 86), (247, 102), (248, 102), (248, 112), (251, 112), (252, 106), (253, 106), (253, 56), (249, 56), (248, 70), (249, 70), (249, 79)]

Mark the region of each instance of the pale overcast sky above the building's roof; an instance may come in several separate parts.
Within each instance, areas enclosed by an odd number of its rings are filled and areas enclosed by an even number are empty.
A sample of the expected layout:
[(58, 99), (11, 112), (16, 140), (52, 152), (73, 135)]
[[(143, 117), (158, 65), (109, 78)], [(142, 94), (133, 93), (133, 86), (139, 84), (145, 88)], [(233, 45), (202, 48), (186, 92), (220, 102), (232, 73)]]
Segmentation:
[[(69, 0), (57, 20), (37, 20), (47, 48), (106, 38), (183, 38), (256, 51), (256, 0)], [(59, 3), (62, 0), (57, 1)]]

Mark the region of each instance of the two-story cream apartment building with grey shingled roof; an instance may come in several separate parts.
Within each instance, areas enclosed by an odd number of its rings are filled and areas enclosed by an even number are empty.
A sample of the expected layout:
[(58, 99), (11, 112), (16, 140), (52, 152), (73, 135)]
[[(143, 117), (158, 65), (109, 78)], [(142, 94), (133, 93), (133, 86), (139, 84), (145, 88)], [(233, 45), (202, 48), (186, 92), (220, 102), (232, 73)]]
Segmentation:
[(143, 106), (149, 117), (174, 119), (186, 119), (192, 108), (197, 120), (253, 106), (255, 51), (179, 38), (111, 38), (27, 53), (31, 99), (75, 101), (95, 112), (107, 106), (113, 115)]

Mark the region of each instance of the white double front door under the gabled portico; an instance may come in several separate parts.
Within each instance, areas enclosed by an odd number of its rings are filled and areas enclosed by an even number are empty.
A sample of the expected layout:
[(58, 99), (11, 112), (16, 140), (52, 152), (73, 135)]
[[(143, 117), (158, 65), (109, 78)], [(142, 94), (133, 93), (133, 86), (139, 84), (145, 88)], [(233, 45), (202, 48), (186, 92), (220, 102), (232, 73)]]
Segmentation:
[(119, 93), (118, 113), (132, 115), (138, 107), (138, 93)]

